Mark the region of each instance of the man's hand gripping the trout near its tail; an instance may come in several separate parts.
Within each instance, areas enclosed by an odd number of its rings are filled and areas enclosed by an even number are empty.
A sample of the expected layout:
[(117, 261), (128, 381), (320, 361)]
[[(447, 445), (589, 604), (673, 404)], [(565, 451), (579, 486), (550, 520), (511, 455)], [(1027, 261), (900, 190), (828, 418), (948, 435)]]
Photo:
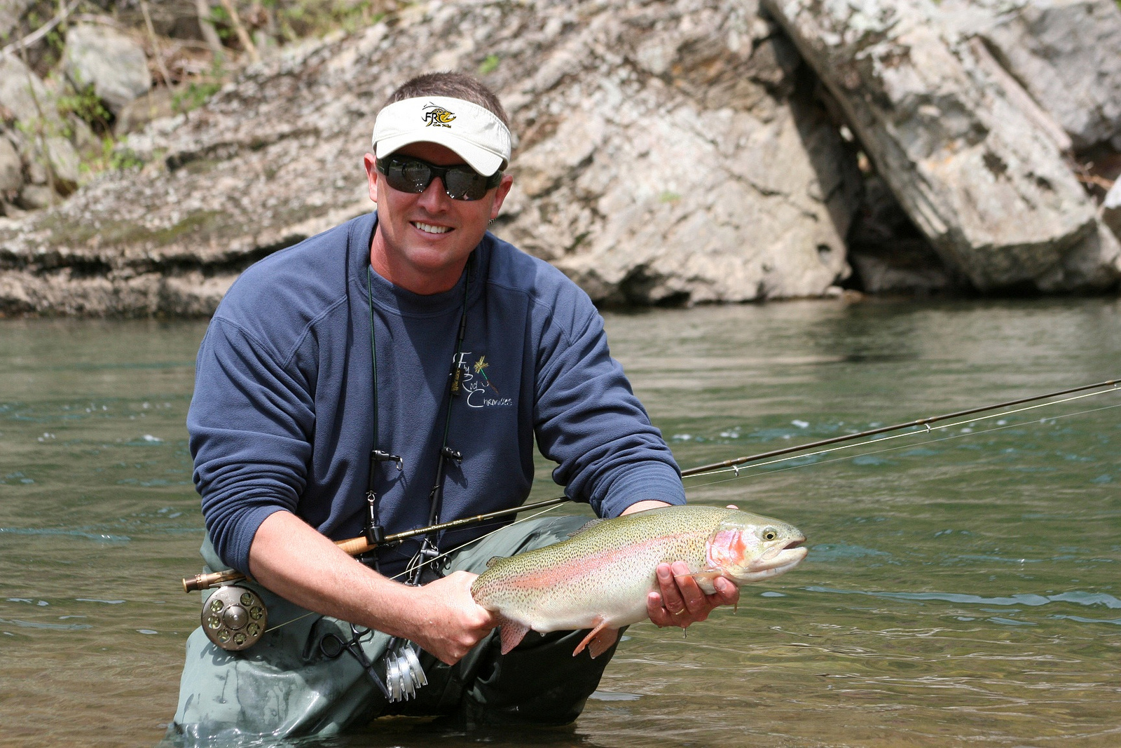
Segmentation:
[(498, 626), (494, 615), (471, 597), (478, 574), (454, 572), (416, 590), (410, 639), (454, 665)]

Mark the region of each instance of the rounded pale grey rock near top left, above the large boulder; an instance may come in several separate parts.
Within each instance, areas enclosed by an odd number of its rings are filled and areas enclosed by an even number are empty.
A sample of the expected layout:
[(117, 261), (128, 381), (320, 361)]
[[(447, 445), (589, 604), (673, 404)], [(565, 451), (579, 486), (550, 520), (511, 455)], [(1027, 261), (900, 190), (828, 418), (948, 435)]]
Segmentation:
[(63, 67), (75, 89), (92, 85), (113, 114), (151, 87), (143, 47), (106, 25), (72, 26), (66, 31)]

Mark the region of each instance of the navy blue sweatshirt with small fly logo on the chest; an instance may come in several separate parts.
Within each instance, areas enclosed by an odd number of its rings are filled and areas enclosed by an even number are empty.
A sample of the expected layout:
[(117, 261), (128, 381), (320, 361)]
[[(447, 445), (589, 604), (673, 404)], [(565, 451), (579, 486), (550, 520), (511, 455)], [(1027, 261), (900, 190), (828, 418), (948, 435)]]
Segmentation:
[[(387, 533), (425, 526), (436, 477), (464, 288), (441, 521), (521, 504), (534, 440), (566, 495), (612, 517), (638, 500), (684, 504), (669, 447), (609, 351), (591, 299), (547, 262), (488, 233), (456, 287), (421, 296), (370, 273), (377, 213), (245, 270), (198, 351), (187, 415), (194, 481), (219, 555), (248, 571), (257, 528), (289, 510), (333, 539), (362, 534), (377, 341), (377, 447), (404, 469), (374, 474)], [(446, 550), (494, 525), (456, 530)], [(418, 548), (382, 550), (392, 574)]]

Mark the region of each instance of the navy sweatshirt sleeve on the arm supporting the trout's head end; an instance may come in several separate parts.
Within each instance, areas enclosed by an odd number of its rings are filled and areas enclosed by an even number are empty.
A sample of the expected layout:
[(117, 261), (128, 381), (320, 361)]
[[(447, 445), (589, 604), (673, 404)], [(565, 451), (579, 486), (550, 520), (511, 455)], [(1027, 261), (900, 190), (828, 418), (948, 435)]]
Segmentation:
[(538, 355), (535, 432), (566, 495), (601, 517), (642, 500), (685, 504), (673, 453), (611, 358), (591, 301), (563, 298), (552, 310)]

